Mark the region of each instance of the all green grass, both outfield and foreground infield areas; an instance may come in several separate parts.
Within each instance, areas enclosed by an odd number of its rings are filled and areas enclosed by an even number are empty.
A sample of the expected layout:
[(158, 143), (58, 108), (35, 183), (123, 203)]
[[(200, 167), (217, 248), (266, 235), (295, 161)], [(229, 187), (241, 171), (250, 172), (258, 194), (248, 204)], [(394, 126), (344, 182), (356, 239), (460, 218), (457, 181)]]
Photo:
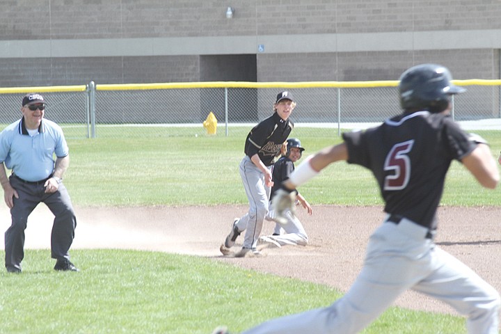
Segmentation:
[[(246, 204), (238, 165), (248, 128), (232, 128), (229, 137), (127, 131), (121, 138), (68, 139), (64, 182), (74, 205)], [(481, 134), (497, 157), (501, 136)], [(332, 129), (295, 129), (292, 136), (301, 139), (305, 156), (340, 142)], [(382, 204), (369, 171), (345, 163), (329, 166), (300, 190), (312, 205)], [(500, 200), (498, 190), (482, 189), (460, 164), (452, 165), (443, 205), (497, 206)], [(21, 275), (0, 273), (0, 333), (211, 333), (220, 324), (239, 332), (340, 297), (324, 285), (201, 257), (73, 250), (81, 272), (58, 273), (49, 256), (49, 250), (26, 250)], [(466, 330), (461, 317), (390, 308), (363, 333)]]

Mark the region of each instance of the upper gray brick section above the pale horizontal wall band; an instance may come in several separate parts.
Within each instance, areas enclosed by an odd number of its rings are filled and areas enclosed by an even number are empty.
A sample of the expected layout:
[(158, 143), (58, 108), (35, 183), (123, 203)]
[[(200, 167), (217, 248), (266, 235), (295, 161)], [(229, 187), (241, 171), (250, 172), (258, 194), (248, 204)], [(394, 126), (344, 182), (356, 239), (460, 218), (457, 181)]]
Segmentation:
[[(225, 18), (228, 4), (234, 19)], [(4, 1), (0, 40), (501, 29), (499, 0)]]

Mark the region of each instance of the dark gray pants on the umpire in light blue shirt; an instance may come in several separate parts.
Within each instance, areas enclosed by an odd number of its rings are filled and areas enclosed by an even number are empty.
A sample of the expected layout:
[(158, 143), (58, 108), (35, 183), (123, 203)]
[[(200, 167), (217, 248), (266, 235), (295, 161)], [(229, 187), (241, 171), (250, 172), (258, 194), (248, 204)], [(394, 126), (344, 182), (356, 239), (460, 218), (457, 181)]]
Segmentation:
[(55, 193), (45, 193), (44, 182), (24, 182), (14, 175), (11, 175), (9, 180), (19, 198), (13, 198), (14, 207), (10, 209), (12, 225), (5, 233), (6, 267), (21, 269), (21, 262), (24, 258), (24, 230), (26, 230), (28, 216), (40, 202), (44, 202), (54, 214), (51, 257), (69, 260), (69, 250), (73, 242), (74, 230), (77, 227), (77, 218), (64, 184), (60, 183)]

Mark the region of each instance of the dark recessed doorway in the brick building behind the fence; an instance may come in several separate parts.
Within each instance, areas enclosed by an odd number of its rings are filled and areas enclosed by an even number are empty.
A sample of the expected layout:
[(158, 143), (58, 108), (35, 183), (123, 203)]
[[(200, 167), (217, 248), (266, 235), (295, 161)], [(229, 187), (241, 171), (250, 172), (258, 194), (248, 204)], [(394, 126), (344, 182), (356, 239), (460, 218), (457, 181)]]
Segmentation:
[[(257, 81), (255, 54), (200, 56), (200, 81)], [(203, 88), (200, 96), (203, 119), (210, 111), (218, 123), (225, 120), (224, 88)], [(257, 89), (228, 89), (228, 122), (256, 122)]]

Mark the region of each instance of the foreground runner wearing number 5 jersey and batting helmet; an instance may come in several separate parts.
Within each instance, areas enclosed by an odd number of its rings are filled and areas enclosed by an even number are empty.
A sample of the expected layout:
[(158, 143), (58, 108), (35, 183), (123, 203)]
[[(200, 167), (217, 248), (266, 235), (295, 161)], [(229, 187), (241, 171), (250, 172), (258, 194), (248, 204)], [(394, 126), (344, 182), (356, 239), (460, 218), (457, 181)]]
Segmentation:
[(451, 79), (441, 65), (406, 70), (399, 83), (403, 113), (365, 132), (343, 134), (343, 143), (303, 162), (277, 191), (272, 207), (280, 217), (294, 205), (292, 189), (346, 160), (372, 171), (387, 215), (370, 237), (363, 269), (347, 294), (326, 308), (274, 319), (245, 334), (357, 333), (406, 289), (451, 305), (468, 318), (468, 333), (498, 333), (498, 292), (434, 244), (436, 209), (452, 160), (488, 189), (499, 182), (486, 141), (450, 118), (451, 95), (464, 91)]

